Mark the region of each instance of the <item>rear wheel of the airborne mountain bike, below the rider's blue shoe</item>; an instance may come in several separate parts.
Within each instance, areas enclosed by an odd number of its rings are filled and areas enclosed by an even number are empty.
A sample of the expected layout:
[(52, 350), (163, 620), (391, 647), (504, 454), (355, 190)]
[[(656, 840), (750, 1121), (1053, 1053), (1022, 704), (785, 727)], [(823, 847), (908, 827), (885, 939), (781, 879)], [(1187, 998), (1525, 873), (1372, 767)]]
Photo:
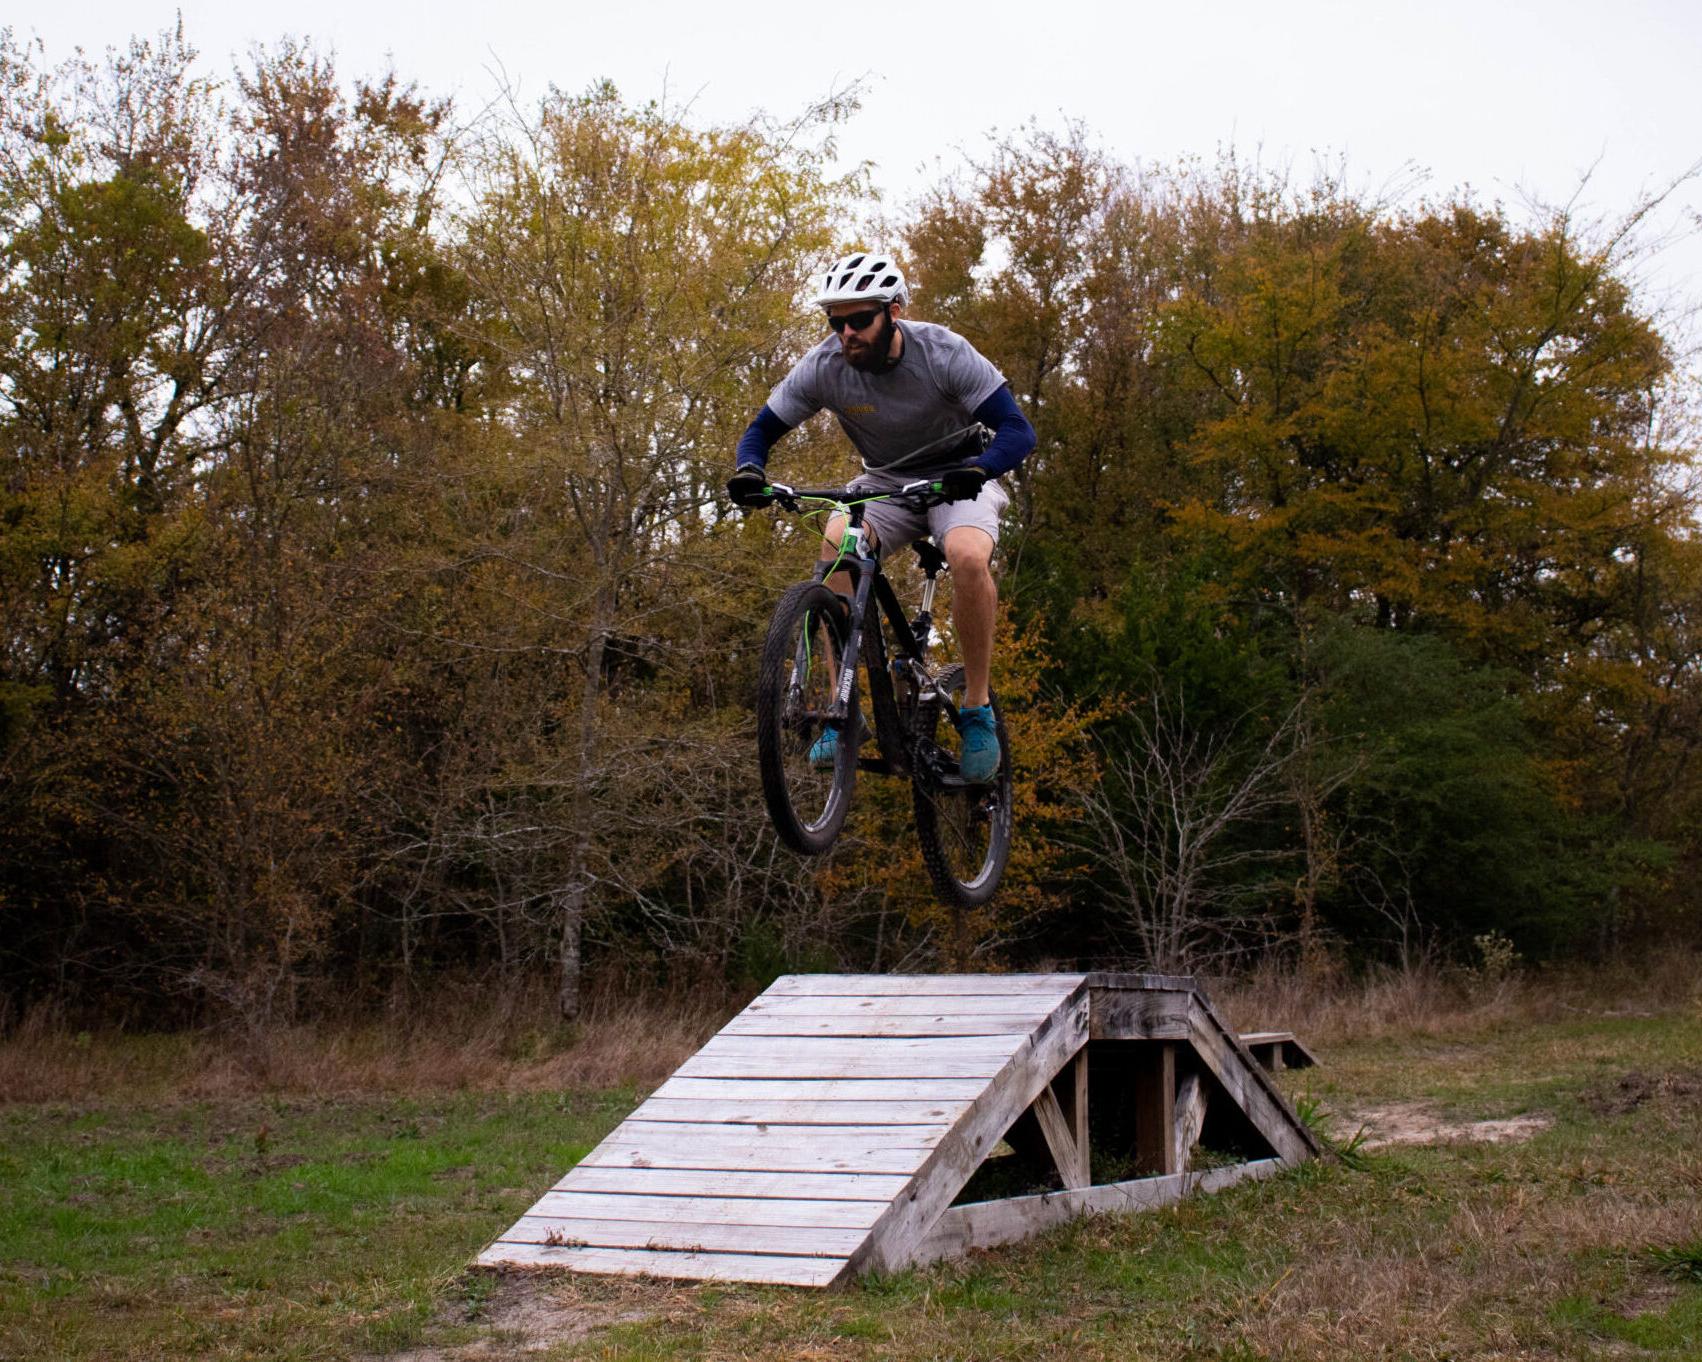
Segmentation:
[[(963, 667), (948, 667), (940, 690), (963, 703)], [(1011, 856), (1011, 739), (999, 700), (992, 700), (999, 734), (999, 770), (987, 785), (958, 775), (962, 739), (938, 696), (916, 707), (916, 838), (940, 897), (955, 907), (979, 907), (994, 896)]]

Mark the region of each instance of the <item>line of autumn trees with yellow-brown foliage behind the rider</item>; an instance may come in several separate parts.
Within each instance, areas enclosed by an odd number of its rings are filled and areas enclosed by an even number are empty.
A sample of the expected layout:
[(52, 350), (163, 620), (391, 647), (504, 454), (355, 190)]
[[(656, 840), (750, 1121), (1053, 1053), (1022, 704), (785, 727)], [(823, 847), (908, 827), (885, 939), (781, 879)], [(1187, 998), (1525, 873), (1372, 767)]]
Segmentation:
[(865, 209), (848, 112), (5, 41), (10, 1015), (1695, 940), (1692, 429), (1619, 243), (1082, 136), (890, 228), (1040, 432), (1008, 889), (933, 904), (877, 781), (780, 851), (751, 683), (814, 550), (720, 485)]

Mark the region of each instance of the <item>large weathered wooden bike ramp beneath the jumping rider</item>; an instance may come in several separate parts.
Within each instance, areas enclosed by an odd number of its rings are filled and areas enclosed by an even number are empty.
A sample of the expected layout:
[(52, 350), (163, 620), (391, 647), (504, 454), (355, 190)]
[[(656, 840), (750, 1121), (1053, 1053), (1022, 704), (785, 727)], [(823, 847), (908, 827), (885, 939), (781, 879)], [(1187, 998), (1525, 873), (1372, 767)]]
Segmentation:
[[(1103, 1124), (1152, 1176), (1091, 1185), (1091, 1052)], [(478, 1263), (827, 1285), (1174, 1200), (1200, 1183), (1178, 1161), (1214, 1100), (1254, 1158), (1207, 1185), (1316, 1154), (1191, 979), (786, 976)], [(1038, 1158), (1060, 1190), (953, 1205), (996, 1149)]]

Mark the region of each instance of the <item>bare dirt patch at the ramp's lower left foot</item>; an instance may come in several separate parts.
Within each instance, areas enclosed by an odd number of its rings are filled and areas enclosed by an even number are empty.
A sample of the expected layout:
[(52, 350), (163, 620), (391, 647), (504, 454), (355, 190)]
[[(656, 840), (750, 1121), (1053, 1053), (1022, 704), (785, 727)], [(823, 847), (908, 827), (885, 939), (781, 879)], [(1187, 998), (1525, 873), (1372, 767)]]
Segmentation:
[(429, 1345), (371, 1357), (366, 1362), (500, 1362), (575, 1343), (597, 1330), (648, 1319), (660, 1311), (625, 1292), (606, 1297), (577, 1294), (558, 1273), (517, 1272), (495, 1279), (497, 1285), (468, 1316), (463, 1308), (446, 1308), (439, 1323), (475, 1325), (480, 1338), (470, 1343)]

